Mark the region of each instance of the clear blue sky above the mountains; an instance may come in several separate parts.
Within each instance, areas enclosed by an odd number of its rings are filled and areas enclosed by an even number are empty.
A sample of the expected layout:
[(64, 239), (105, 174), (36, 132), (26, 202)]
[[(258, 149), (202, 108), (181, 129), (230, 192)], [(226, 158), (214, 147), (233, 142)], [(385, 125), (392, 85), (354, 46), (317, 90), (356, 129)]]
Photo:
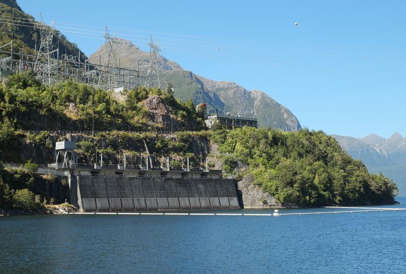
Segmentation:
[(106, 25), (143, 50), (152, 34), (185, 70), (262, 90), (302, 126), (406, 136), (404, 1), (18, 3), (55, 20), (87, 55)]

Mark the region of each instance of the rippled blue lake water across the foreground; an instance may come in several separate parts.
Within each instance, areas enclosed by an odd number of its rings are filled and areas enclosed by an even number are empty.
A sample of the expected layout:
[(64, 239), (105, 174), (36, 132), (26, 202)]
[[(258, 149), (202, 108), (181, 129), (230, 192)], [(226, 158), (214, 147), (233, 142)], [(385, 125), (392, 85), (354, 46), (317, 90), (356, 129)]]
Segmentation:
[[(315, 211), (327, 209), (280, 212)], [(2, 273), (406, 273), (406, 211), (13, 216), (0, 218), (0, 233)]]

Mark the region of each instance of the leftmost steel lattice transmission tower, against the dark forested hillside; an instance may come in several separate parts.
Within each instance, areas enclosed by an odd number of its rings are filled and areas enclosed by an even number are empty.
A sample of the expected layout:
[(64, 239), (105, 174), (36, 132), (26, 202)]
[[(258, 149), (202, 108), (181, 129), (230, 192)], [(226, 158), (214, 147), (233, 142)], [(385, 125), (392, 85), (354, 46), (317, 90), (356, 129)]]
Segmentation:
[(54, 74), (57, 74), (57, 61), (54, 53), (58, 49), (53, 50), (52, 43), (55, 28), (53, 21), (51, 25), (45, 24), (42, 16), (41, 21), (36, 24), (36, 28), (40, 30), (41, 45), (35, 61), (34, 72), (42, 83), (51, 86), (57, 80), (54, 77)]

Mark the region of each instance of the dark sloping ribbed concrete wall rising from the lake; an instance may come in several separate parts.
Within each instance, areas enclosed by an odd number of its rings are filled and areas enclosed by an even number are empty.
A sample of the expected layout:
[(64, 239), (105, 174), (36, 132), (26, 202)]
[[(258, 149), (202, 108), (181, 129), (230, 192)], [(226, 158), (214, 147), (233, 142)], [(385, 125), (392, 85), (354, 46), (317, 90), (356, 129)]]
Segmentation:
[(83, 212), (239, 209), (233, 179), (77, 176)]

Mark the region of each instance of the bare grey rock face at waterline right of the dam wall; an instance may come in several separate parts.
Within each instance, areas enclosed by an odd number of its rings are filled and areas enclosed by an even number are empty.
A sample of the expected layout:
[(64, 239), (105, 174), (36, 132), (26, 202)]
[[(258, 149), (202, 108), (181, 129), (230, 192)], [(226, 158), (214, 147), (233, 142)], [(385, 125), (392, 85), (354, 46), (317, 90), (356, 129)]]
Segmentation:
[(282, 208), (273, 195), (263, 192), (260, 186), (253, 185), (254, 177), (251, 174), (246, 175), (243, 180), (238, 182), (238, 188), (243, 194), (243, 203), (245, 209), (266, 209)]

